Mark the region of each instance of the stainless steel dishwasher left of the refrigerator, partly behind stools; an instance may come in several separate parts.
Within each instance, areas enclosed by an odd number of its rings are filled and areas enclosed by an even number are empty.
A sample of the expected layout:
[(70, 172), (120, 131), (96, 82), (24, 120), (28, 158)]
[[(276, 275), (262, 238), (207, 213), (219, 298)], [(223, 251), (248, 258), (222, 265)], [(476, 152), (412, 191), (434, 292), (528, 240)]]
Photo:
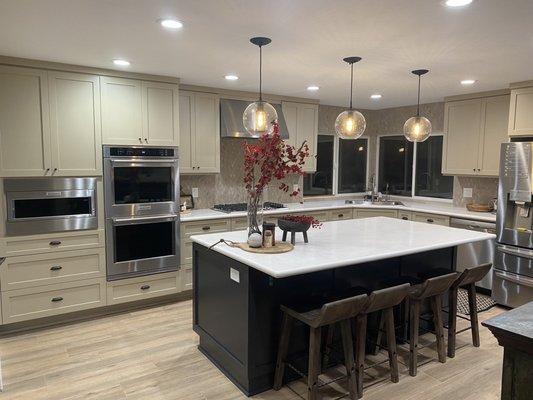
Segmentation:
[[(491, 222), (452, 218), (450, 220), (450, 226), (478, 232), (496, 232), (496, 224)], [(481, 242), (467, 243), (457, 246), (457, 271), (461, 272), (466, 268), (475, 267), (484, 263), (493, 263), (494, 248), (494, 240), (484, 240)], [(477, 282), (476, 286), (487, 290), (492, 290), (492, 271), (489, 272), (480, 282)]]

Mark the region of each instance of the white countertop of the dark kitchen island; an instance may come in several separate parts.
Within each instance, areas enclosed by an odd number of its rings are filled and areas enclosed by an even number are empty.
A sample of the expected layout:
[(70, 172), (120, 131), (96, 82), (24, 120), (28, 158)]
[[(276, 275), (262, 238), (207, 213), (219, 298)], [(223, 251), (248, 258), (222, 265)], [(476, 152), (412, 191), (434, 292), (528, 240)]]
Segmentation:
[[(257, 254), (220, 243), (213, 249), (274, 278), (382, 260), (407, 254), (494, 239), (488, 233), (449, 228), (396, 218), (375, 217), (324, 222), (308, 231), (309, 243), (296, 235), (294, 250), (283, 254)], [(246, 241), (246, 231), (192, 236), (203, 246), (220, 239)], [(277, 229), (276, 238), (281, 239)]]

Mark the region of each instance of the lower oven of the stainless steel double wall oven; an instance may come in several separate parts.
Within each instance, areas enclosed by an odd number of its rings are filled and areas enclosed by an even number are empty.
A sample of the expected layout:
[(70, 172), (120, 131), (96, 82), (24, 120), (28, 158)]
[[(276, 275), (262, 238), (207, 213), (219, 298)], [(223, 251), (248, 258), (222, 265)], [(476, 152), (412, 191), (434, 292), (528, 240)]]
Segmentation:
[(108, 280), (178, 270), (179, 237), (177, 215), (108, 218)]

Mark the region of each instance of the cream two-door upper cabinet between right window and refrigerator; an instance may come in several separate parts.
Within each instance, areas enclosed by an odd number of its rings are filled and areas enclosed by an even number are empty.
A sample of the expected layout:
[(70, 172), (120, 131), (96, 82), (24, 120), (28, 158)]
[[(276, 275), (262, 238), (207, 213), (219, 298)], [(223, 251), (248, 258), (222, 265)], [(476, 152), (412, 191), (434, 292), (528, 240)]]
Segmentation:
[(508, 95), (447, 102), (443, 173), (498, 176), (500, 145), (508, 140), (508, 119)]

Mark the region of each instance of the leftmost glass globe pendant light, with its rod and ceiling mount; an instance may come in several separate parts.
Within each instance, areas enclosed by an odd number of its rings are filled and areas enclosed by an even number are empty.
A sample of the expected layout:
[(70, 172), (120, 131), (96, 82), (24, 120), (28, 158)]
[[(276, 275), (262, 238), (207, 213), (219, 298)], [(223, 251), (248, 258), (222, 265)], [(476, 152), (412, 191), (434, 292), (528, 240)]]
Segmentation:
[(270, 103), (263, 101), (262, 93), (262, 67), (263, 67), (263, 46), (272, 40), (266, 37), (254, 37), (250, 42), (259, 47), (259, 100), (246, 107), (242, 115), (242, 123), (246, 131), (252, 137), (270, 135), (274, 129), (273, 122), (278, 119), (278, 113)]

